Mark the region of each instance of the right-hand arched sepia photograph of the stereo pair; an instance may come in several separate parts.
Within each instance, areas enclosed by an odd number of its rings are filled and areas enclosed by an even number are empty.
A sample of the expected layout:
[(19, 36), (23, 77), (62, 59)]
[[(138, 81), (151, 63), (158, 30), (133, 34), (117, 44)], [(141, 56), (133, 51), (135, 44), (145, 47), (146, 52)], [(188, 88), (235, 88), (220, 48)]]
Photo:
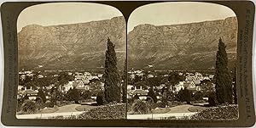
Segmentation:
[(215, 3), (165, 2), (127, 23), (128, 120), (237, 120), (238, 23)]

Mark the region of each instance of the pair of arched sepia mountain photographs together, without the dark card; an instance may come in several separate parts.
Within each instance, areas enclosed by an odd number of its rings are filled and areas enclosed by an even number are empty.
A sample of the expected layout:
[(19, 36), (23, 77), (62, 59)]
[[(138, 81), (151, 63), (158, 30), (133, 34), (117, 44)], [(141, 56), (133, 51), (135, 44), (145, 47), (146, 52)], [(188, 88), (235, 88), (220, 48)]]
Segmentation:
[(238, 23), (217, 3), (42, 3), (17, 19), (17, 119), (237, 120)]

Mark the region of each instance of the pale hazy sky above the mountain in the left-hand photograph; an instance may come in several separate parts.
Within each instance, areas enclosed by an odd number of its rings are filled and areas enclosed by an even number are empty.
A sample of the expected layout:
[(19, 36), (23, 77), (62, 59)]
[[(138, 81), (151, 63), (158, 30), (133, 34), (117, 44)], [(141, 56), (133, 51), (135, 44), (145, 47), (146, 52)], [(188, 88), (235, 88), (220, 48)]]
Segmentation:
[(63, 25), (122, 16), (118, 9), (97, 3), (45, 3), (24, 9), (17, 31), (26, 25)]

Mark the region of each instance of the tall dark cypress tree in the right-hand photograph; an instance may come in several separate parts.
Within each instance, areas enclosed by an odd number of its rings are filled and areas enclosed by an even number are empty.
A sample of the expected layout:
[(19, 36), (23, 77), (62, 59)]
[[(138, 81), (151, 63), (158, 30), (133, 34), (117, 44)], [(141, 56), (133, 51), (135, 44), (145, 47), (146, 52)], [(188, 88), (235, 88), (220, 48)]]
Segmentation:
[(219, 38), (215, 86), (218, 103), (232, 103), (232, 81), (228, 69), (228, 57), (225, 47), (224, 42)]

